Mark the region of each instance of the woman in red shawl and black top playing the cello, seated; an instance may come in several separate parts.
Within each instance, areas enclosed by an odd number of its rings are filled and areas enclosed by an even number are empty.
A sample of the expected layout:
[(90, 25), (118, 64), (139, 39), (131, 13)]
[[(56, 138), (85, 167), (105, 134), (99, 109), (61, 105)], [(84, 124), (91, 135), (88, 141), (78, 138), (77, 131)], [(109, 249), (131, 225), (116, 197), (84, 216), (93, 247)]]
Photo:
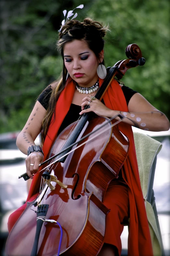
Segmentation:
[[(104, 245), (98, 255), (121, 254), (120, 235), (124, 220), (130, 217), (128, 253), (131, 256), (152, 255), (152, 245), (145, 205), (140, 186), (131, 126), (143, 130), (165, 131), (170, 127), (166, 116), (155, 109), (138, 92), (121, 86), (113, 80), (103, 100), (95, 96), (103, 82), (101, 63), (104, 63), (104, 40), (107, 28), (86, 18), (83, 22), (68, 20), (61, 28), (58, 49), (63, 57), (63, 75), (48, 86), (39, 96), (35, 107), (17, 138), (18, 148), (27, 154), (28, 148), (41, 132), (43, 152), (29, 152), (26, 172), (33, 180), (27, 201), (35, 199), (39, 179), (34, 178), (39, 164), (47, 157), (50, 148), (63, 129), (86, 112), (111, 118), (121, 113), (126, 118), (118, 124), (119, 130), (128, 136), (130, 150), (119, 178), (109, 184), (103, 203), (111, 209), (107, 216)], [(101, 78), (100, 78), (101, 77)], [(90, 108), (85, 109), (85, 105)], [(119, 117), (116, 118), (119, 120)], [(8, 220), (9, 232), (26, 205), (15, 211)]]

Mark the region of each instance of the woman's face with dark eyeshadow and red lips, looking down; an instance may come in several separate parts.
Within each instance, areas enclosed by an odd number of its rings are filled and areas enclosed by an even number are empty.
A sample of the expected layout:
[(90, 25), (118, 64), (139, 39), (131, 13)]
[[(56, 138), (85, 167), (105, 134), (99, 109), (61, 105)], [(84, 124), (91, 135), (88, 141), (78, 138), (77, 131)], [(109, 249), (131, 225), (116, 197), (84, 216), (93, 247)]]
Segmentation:
[(66, 43), (63, 53), (66, 69), (79, 86), (90, 87), (98, 81), (99, 61), (85, 40)]

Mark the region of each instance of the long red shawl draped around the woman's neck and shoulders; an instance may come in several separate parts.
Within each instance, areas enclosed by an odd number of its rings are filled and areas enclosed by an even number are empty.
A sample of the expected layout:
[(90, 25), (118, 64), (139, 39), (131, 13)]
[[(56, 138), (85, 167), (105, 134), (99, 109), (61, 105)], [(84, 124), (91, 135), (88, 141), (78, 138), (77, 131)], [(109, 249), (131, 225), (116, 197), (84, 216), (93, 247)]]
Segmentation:
[[(103, 80), (99, 79), (101, 86)], [(62, 91), (55, 108), (56, 118), (54, 115), (43, 145), (44, 159), (48, 157), (51, 146), (56, 138), (57, 132), (70, 109), (72, 98), (75, 91), (75, 84), (72, 80), (67, 82)], [(105, 105), (114, 110), (128, 111), (127, 103), (123, 91), (119, 84), (113, 80), (107, 92), (103, 97)], [(139, 172), (137, 166), (136, 152), (134, 146), (133, 132), (131, 126), (120, 122), (119, 130), (130, 140), (130, 149), (128, 158), (124, 164), (125, 172), (122, 173), (124, 180), (128, 184), (128, 194), (130, 201), (130, 227), (128, 237), (128, 255), (130, 256), (152, 256), (152, 245), (150, 232), (147, 222), (147, 214), (140, 185)], [(40, 175), (35, 175), (27, 201), (32, 195), (37, 193), (40, 185)]]

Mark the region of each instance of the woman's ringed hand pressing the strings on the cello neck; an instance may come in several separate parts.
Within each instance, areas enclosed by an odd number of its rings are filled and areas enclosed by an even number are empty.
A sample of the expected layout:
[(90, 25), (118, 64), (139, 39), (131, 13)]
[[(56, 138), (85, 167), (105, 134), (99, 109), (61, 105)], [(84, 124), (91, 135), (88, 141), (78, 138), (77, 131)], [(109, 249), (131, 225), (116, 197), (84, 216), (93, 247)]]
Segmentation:
[[(106, 107), (100, 100), (96, 98), (92, 100), (91, 96), (86, 96), (82, 101), (82, 111), (79, 113), (80, 115), (87, 112), (94, 112), (98, 116), (109, 118), (114, 116), (114, 110)], [(90, 105), (90, 107), (85, 109), (85, 105)]]

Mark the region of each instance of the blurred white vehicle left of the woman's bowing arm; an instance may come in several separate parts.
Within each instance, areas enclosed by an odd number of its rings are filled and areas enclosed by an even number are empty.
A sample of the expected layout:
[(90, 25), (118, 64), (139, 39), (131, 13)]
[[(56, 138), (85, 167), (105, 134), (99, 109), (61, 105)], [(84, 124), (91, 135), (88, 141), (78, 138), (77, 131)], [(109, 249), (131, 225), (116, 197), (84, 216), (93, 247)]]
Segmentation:
[[(27, 182), (18, 177), (26, 172), (25, 158), (16, 146), (19, 132), (0, 135), (0, 255), (5, 256), (4, 247), (8, 237), (8, 217), (25, 203)], [(39, 145), (39, 136), (35, 141)]]

